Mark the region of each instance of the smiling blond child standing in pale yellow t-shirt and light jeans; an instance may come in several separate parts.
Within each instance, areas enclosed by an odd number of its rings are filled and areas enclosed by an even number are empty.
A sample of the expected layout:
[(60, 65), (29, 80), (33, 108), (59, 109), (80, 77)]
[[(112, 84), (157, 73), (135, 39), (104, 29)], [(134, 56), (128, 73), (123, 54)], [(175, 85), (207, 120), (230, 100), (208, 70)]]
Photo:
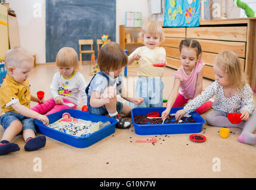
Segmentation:
[(165, 64), (165, 49), (159, 47), (164, 41), (164, 33), (161, 24), (156, 21), (144, 23), (140, 37), (145, 46), (138, 47), (128, 57), (128, 64), (138, 61), (138, 80), (135, 85), (135, 97), (143, 97), (141, 105), (126, 102), (132, 107), (162, 107), (164, 83), (162, 83), (163, 67), (152, 64)]

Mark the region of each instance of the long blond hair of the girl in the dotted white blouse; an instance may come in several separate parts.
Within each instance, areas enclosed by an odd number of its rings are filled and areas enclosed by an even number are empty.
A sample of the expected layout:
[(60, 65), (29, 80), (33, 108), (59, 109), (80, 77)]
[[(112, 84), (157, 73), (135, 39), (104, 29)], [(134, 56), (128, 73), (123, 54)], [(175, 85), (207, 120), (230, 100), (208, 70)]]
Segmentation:
[(214, 64), (222, 68), (224, 72), (227, 72), (229, 80), (233, 82), (233, 87), (242, 90), (247, 81), (236, 53), (224, 50), (215, 57)]

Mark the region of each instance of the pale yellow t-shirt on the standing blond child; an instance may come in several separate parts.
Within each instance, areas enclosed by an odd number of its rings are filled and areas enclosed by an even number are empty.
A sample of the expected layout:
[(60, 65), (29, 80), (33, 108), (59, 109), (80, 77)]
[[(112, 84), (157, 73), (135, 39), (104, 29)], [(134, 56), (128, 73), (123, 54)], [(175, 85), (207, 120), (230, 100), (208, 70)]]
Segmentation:
[(150, 49), (146, 46), (138, 47), (131, 53), (132, 56), (134, 53), (141, 55), (140, 60), (138, 61), (138, 76), (139, 77), (162, 77), (164, 74), (164, 68), (158, 66), (152, 66), (152, 64), (159, 63), (159, 55), (166, 55), (164, 47), (155, 47)]

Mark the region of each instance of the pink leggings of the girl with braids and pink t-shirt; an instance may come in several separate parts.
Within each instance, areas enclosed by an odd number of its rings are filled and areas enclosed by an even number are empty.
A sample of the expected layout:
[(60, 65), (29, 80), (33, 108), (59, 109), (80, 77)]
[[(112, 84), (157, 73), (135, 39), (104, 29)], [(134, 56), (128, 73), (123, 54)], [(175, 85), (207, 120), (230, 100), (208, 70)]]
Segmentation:
[[(187, 103), (187, 101), (189, 100), (185, 99), (184, 96), (178, 93), (177, 99), (175, 100), (172, 107), (182, 107), (184, 106), (184, 104)], [(212, 108), (212, 102), (208, 101), (204, 103), (202, 106), (198, 107), (198, 109), (196, 109), (196, 112), (198, 112), (199, 114), (202, 114), (211, 108)]]

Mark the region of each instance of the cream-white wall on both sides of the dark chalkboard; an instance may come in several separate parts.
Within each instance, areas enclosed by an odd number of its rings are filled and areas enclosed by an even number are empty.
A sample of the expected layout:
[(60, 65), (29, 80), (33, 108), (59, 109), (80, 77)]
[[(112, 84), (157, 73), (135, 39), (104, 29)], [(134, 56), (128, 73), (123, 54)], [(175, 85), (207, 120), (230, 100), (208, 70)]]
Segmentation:
[[(45, 63), (45, 0), (6, 2), (17, 15), (20, 46), (36, 53), (38, 63)], [(38, 5), (41, 5), (41, 17), (37, 17)], [(144, 21), (149, 19), (148, 7), (148, 0), (116, 0), (116, 42), (119, 43), (119, 25), (125, 24), (125, 12), (142, 12)]]

